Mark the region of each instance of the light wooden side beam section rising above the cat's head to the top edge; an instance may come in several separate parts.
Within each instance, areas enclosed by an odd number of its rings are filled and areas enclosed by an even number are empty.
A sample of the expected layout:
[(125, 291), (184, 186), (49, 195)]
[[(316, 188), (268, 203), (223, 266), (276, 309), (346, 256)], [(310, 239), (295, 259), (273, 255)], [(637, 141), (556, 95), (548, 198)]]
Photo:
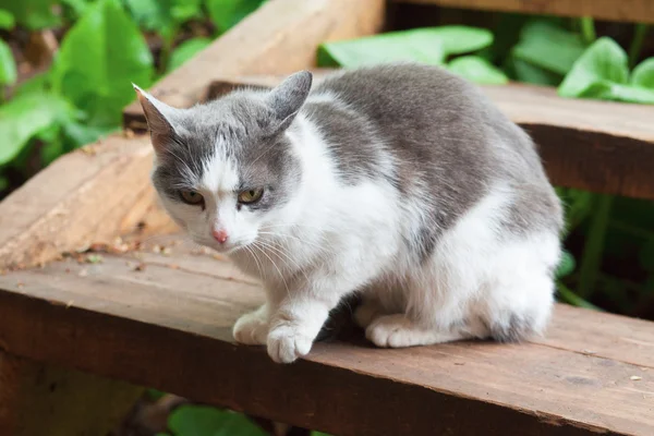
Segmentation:
[[(197, 102), (215, 78), (286, 74), (315, 64), (318, 45), (376, 33), (384, 0), (275, 0), (219, 37), (149, 92), (174, 107)], [(147, 128), (137, 101), (123, 111), (123, 125)]]

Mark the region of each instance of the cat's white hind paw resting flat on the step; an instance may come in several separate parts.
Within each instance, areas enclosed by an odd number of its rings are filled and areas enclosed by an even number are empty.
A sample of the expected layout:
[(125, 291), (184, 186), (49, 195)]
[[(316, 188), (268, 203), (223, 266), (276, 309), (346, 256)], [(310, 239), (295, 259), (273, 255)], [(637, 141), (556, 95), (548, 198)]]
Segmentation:
[(404, 315), (385, 315), (366, 328), (365, 337), (377, 347), (402, 348), (433, 343), (435, 335), (417, 328)]

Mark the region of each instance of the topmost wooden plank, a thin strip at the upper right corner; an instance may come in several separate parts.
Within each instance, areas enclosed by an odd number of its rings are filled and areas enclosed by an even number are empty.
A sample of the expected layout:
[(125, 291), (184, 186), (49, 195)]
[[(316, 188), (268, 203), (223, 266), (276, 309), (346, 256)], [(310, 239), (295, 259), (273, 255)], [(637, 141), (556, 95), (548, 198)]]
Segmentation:
[(520, 12), (560, 16), (592, 16), (600, 20), (654, 23), (650, 0), (391, 0), (397, 3), (434, 4), (444, 8)]

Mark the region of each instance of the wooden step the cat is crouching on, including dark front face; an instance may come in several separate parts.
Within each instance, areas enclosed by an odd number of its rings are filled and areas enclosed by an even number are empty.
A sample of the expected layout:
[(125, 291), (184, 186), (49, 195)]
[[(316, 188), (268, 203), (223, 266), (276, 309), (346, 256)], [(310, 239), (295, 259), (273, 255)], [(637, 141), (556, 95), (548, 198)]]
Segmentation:
[(173, 237), (80, 261), (0, 276), (2, 349), (335, 435), (654, 434), (654, 323), (559, 305), (529, 343), (344, 330), (277, 365), (233, 342), (263, 293), (219, 256)]

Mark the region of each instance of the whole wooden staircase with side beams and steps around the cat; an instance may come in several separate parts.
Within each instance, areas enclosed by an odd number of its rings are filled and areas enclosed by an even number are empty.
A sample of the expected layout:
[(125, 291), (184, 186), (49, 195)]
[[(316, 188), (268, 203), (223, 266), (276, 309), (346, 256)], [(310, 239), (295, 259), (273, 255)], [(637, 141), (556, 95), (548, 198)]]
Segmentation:
[[(654, 19), (645, 0), (414, 2)], [(377, 32), (386, 5), (270, 1), (152, 92), (189, 106), (272, 85), (324, 40)], [(536, 140), (554, 183), (654, 199), (654, 108), (484, 89)], [(235, 344), (233, 322), (263, 293), (184, 242), (154, 201), (140, 108), (124, 119), (123, 134), (0, 203), (0, 435), (102, 435), (143, 386), (335, 435), (654, 435), (652, 322), (561, 304), (537, 341), (404, 350), (344, 323), (292, 365)]]

